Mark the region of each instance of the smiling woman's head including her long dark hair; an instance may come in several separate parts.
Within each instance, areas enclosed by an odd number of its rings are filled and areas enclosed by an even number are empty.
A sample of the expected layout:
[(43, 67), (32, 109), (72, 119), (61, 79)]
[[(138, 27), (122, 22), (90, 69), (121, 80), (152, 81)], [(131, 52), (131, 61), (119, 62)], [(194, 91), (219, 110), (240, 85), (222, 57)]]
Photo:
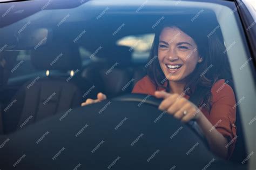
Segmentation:
[[(178, 80), (186, 82), (184, 90), (191, 94), (197, 86), (211, 88), (219, 79), (232, 82), (220, 30), (208, 37), (203, 27), (203, 24), (175, 21), (165, 21), (159, 26), (149, 57), (150, 60), (158, 56), (158, 61), (147, 67), (147, 74), (156, 87), (172, 92), (170, 81), (167, 81), (168, 87), (164, 83), (167, 79)], [(210, 110), (210, 91), (205, 103)]]

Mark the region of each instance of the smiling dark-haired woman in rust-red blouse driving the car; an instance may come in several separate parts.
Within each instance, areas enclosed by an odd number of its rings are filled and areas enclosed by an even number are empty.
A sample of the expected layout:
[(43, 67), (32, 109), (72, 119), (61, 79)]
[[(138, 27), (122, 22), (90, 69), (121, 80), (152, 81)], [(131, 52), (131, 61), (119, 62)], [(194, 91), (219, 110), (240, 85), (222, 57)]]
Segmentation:
[[(212, 152), (227, 159), (235, 144), (236, 110), (234, 92), (227, 85), (232, 79), (224, 50), (217, 33), (208, 38), (199, 25), (164, 22), (154, 37), (147, 76), (132, 93), (163, 98), (159, 109), (183, 122), (195, 119)], [(208, 90), (196, 106), (188, 99), (201, 89)]]

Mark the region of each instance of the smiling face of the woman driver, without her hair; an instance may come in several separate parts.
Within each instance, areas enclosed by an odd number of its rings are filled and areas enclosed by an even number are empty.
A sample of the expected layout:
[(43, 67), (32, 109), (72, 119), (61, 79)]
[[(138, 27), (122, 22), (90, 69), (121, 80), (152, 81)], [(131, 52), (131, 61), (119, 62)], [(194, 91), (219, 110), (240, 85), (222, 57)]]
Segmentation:
[(158, 60), (169, 81), (182, 81), (193, 72), (201, 58), (190, 36), (176, 27), (166, 27), (159, 37)]

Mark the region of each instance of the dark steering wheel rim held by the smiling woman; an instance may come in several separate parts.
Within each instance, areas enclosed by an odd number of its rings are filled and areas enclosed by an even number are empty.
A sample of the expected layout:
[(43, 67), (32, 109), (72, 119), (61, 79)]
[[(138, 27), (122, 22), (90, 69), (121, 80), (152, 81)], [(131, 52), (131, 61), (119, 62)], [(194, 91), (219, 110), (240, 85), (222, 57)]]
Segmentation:
[[(153, 106), (158, 107), (163, 101), (163, 99), (158, 99), (150, 94), (140, 94), (140, 93), (130, 93), (124, 94), (123, 96), (118, 96), (113, 99), (113, 101), (135, 101), (135, 102), (142, 102), (144, 104), (150, 104)], [(208, 147), (207, 140), (205, 138), (204, 133), (201, 131), (199, 125), (195, 120), (188, 121), (187, 125), (196, 135), (204, 142), (204, 144)]]

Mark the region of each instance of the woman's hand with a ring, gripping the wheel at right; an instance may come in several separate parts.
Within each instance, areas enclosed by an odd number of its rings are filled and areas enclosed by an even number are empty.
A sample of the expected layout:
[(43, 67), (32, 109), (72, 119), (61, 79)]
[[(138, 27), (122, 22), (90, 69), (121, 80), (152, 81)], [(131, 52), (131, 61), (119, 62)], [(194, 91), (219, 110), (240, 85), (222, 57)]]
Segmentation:
[(171, 94), (165, 91), (156, 91), (154, 94), (157, 98), (164, 99), (158, 107), (159, 110), (166, 110), (174, 118), (183, 122), (188, 122), (191, 119), (198, 120), (203, 115), (196, 105), (179, 94)]

